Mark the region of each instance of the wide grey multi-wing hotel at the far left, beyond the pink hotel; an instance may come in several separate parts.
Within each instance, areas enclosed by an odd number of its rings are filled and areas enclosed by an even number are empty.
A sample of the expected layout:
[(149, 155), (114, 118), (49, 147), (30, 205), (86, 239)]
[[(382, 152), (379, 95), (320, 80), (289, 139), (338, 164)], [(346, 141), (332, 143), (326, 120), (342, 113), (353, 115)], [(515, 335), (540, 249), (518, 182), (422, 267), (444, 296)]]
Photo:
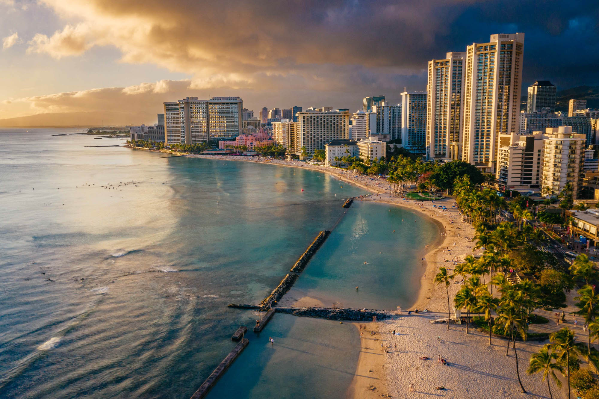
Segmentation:
[(186, 97), (164, 102), (167, 144), (233, 140), (242, 133), (243, 101), (239, 97)]

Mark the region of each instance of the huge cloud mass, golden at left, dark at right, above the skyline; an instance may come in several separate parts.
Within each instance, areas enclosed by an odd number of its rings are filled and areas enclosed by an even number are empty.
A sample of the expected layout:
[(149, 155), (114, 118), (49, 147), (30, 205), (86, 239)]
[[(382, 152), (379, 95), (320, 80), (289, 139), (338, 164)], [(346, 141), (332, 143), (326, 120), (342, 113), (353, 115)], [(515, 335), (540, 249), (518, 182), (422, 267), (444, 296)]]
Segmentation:
[[(499, 32), (526, 32), (525, 82), (553, 81), (558, 71), (563, 82), (596, 80), (592, 72), (583, 77), (576, 68), (559, 68), (580, 57), (599, 64), (596, 0), (580, 0), (576, 7), (567, 0), (40, 2), (65, 26), (38, 32), (29, 53), (62, 59), (110, 46), (119, 50), (120, 62), (158, 65), (191, 78), (184, 90), (165, 80), (20, 102), (39, 112), (101, 107), (116, 112), (113, 102), (137, 107), (131, 99), (155, 109), (195, 93), (240, 95), (255, 109), (292, 103), (357, 109), (366, 95), (385, 93), (396, 102), (404, 86), (424, 90), (427, 61)], [(560, 49), (559, 60), (549, 47)]]

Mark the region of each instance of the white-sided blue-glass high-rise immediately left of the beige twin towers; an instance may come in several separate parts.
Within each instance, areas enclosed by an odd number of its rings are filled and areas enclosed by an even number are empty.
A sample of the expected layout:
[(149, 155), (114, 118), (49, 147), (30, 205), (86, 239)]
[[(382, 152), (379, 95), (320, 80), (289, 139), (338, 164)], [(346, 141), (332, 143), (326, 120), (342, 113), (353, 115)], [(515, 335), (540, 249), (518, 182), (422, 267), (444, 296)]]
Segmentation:
[(401, 93), (401, 146), (409, 150), (426, 145), (426, 92)]

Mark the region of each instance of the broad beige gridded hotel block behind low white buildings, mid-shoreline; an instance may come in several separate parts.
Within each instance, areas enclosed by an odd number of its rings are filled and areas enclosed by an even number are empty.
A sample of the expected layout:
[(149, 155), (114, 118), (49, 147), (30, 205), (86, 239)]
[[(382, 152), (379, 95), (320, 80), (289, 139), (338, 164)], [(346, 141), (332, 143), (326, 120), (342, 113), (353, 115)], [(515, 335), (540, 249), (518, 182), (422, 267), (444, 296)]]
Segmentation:
[[(328, 107), (323, 107), (326, 109)], [(305, 147), (308, 155), (325, 148), (332, 140), (349, 138), (349, 111), (306, 110), (297, 113), (298, 130), (295, 154)]]

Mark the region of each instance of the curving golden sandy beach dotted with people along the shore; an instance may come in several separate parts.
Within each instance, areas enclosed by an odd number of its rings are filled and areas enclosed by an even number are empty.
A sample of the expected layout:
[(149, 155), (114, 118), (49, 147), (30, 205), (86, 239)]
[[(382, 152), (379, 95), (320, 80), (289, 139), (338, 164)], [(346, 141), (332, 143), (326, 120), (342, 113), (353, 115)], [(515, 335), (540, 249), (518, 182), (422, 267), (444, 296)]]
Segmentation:
[[(473, 255), (474, 229), (462, 222), (453, 198), (444, 198), (434, 203), (404, 200), (391, 194), (391, 186), (384, 179), (344, 171), (337, 168), (320, 167), (299, 161), (279, 161), (264, 158), (239, 158), (231, 156), (200, 156), (227, 161), (263, 162), (286, 167), (300, 167), (331, 174), (337, 179), (351, 183), (373, 193), (364, 201), (386, 202), (430, 217), (440, 228), (440, 237), (426, 248), (425, 273), (420, 280), (420, 291), (416, 303), (410, 307), (427, 309), (429, 312), (407, 315), (408, 309), (394, 311), (394, 318), (355, 324), (362, 333), (360, 355), (352, 385), (346, 392), (349, 398), (425, 398), (431, 396), (451, 398), (506, 398), (522, 397), (516, 379), (513, 350), (506, 356), (506, 341), (493, 338), (490, 346), (488, 335), (470, 329), (465, 334), (465, 325), (431, 324), (436, 318), (447, 317), (447, 295), (444, 286), (434, 284), (440, 267), (453, 271), (454, 262)], [(436, 205), (436, 206), (433, 206)], [(444, 205), (447, 210), (440, 210)], [(481, 253), (481, 252), (479, 252)], [(449, 286), (449, 297), (460, 288), (458, 277)], [(293, 299), (290, 299), (290, 298)], [(297, 289), (289, 291), (280, 304), (285, 306), (334, 306), (332, 298), (311, 298)], [(452, 306), (452, 304), (451, 304)], [(361, 330), (360, 326), (365, 330)], [(532, 329), (531, 329), (532, 330)], [(394, 335), (392, 332), (395, 331)], [(527, 376), (525, 369), (531, 353), (543, 343), (518, 342), (519, 370), (525, 389), (534, 397), (548, 398), (546, 382), (540, 376)], [(449, 365), (437, 362), (437, 356), (447, 359)], [(428, 357), (422, 360), (420, 357)], [(410, 389), (412, 384), (412, 389)], [(437, 389), (444, 387), (444, 389)], [(552, 382), (554, 398), (566, 397), (562, 389)]]

